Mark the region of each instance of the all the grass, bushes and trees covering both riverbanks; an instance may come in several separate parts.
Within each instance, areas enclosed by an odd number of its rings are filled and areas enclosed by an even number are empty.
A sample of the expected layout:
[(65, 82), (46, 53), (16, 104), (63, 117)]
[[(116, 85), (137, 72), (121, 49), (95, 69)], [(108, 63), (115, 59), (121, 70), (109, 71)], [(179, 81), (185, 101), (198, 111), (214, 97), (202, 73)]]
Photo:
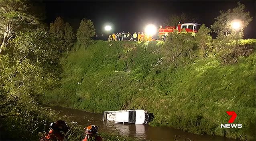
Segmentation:
[[(175, 32), (166, 42), (93, 41), (93, 23), (85, 19), (75, 42), (69, 23), (57, 18), (48, 28), (29, 1), (0, 6), (1, 140), (38, 140), (59, 120), (39, 101), (92, 112), (146, 109), (155, 116), (153, 126), (255, 139), (256, 40), (218, 28), (230, 15), (250, 22), (243, 5), (216, 19), (216, 39), (203, 25), (195, 38)], [(226, 111), (236, 111), (242, 129), (220, 128)], [(82, 139), (81, 130), (73, 127), (67, 140)]]

